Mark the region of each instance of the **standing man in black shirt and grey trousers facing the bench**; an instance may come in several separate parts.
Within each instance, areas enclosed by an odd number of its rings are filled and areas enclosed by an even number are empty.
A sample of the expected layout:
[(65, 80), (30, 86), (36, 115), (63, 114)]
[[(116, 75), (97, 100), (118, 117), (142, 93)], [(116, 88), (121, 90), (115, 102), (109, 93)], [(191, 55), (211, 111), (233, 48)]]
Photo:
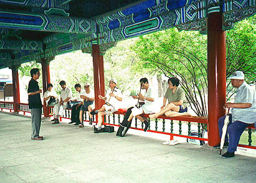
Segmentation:
[(31, 69), (31, 81), (29, 81), (27, 94), (29, 95), (29, 109), (31, 109), (32, 140), (44, 140), (42, 136), (39, 136), (42, 115), (42, 101), (40, 98), (42, 89), (39, 89), (38, 82), (36, 81), (39, 76), (38, 68)]

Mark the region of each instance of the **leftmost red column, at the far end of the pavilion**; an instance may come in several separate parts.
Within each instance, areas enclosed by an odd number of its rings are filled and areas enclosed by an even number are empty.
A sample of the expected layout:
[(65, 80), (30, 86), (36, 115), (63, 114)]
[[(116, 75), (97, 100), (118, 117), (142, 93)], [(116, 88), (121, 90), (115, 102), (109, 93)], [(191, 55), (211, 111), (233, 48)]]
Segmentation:
[(21, 102), (19, 94), (19, 66), (12, 66), (12, 92), (14, 101), (14, 112), (19, 110), (19, 102)]

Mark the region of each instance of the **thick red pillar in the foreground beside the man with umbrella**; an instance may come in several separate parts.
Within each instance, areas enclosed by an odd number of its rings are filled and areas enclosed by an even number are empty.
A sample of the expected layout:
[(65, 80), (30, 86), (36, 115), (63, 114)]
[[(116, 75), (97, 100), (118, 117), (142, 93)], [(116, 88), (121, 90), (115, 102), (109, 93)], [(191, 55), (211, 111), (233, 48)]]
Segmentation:
[(207, 18), (208, 118), (209, 145), (220, 142), (218, 120), (224, 115), (226, 93), (226, 46), (222, 14), (213, 12)]

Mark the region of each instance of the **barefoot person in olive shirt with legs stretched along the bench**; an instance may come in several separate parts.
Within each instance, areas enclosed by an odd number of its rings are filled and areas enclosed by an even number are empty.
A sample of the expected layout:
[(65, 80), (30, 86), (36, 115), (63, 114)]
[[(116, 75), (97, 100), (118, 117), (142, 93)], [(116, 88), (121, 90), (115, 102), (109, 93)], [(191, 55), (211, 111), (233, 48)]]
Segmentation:
[[(159, 115), (166, 115), (167, 117), (174, 117), (180, 115), (190, 115), (187, 113), (187, 102), (185, 92), (179, 86), (179, 79), (176, 77), (168, 79), (168, 89), (164, 95), (163, 106), (156, 114), (149, 115), (149, 118), (158, 118)], [(166, 101), (168, 100), (168, 105)], [(184, 108), (185, 107), (185, 108)]]

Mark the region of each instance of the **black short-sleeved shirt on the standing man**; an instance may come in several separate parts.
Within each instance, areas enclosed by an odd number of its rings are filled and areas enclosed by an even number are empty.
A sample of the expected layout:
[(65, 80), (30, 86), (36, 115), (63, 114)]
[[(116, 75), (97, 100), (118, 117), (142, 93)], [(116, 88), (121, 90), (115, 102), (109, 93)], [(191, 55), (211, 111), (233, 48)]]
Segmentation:
[[(39, 91), (38, 82), (35, 79), (29, 81), (29, 87), (27, 93)], [(42, 107), (42, 100), (39, 94), (29, 95), (29, 109), (37, 109)]]

